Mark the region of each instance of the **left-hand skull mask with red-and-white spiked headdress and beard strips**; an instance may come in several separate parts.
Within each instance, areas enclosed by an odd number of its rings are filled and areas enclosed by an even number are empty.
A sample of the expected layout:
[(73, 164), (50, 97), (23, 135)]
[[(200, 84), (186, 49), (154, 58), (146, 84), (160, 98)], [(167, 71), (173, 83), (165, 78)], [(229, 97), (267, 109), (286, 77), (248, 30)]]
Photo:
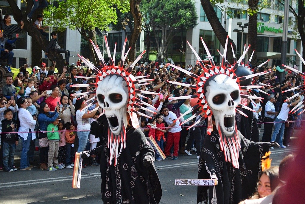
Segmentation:
[[(127, 66), (127, 68), (124, 69), (124, 62), (130, 50), (129, 48), (129, 50), (125, 54), (125, 46), (126, 46), (127, 38), (125, 39), (124, 42), (124, 46), (122, 49), (123, 50), (122, 57), (120, 64), (118, 66), (114, 65), (115, 51), (112, 57), (110, 54), (106, 36), (105, 36), (105, 42), (106, 42), (107, 54), (109, 57), (110, 65), (106, 65), (105, 60), (102, 57), (101, 51), (99, 50), (98, 46), (91, 41), (93, 48), (95, 49), (95, 52), (99, 57), (100, 62), (102, 63), (102, 69), (96, 68), (94, 65), (91, 64), (90, 61), (87, 61), (84, 57), (78, 55), (86, 63), (86, 65), (90, 69), (92, 69), (97, 75), (96, 78), (83, 77), (83, 76), (80, 78), (95, 79), (96, 83), (75, 84), (72, 86), (96, 87), (96, 91), (90, 91), (90, 92), (74, 94), (74, 95), (78, 95), (78, 96), (83, 95), (82, 97), (91, 94), (95, 95), (93, 98), (86, 101), (86, 102), (91, 102), (91, 101), (92, 102), (89, 103), (88, 106), (86, 106), (84, 109), (96, 103), (98, 103), (98, 106), (95, 109), (93, 109), (91, 112), (100, 108), (103, 109), (100, 116), (105, 114), (109, 124), (108, 143), (107, 143), (110, 151), (109, 164), (111, 165), (114, 160), (114, 165), (117, 165), (117, 158), (120, 156), (122, 149), (125, 148), (126, 146), (125, 128), (127, 127), (128, 124), (127, 115), (130, 116), (132, 126), (134, 128), (138, 128), (139, 123), (138, 123), (137, 114), (148, 118), (150, 117), (142, 112), (137, 111), (136, 108), (155, 113), (150, 109), (143, 107), (143, 105), (146, 105), (157, 110), (152, 105), (138, 99), (137, 95), (140, 95), (141, 93), (153, 94), (153, 95), (158, 95), (158, 94), (154, 92), (139, 90), (138, 86), (146, 85), (148, 84), (146, 82), (151, 80), (145, 79), (145, 77), (142, 76), (134, 77), (133, 75), (131, 75), (132, 69), (135, 67), (135, 64), (141, 59), (145, 51), (142, 52), (130, 66)], [(116, 49), (116, 45), (115, 45), (115, 49)], [(146, 98), (144, 96), (142, 97)]]

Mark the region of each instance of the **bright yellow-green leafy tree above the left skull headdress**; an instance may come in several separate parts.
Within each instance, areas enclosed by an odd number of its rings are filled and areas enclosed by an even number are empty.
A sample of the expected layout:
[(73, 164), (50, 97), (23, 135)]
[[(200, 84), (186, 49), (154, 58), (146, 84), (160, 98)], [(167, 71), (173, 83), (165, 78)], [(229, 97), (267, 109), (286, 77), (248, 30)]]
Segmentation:
[(90, 59), (96, 64), (90, 39), (97, 44), (95, 28), (109, 30), (109, 24), (116, 24), (116, 9), (126, 12), (129, 9), (127, 0), (56, 0), (56, 7), (45, 9), (47, 24), (59, 29), (76, 29), (90, 44)]

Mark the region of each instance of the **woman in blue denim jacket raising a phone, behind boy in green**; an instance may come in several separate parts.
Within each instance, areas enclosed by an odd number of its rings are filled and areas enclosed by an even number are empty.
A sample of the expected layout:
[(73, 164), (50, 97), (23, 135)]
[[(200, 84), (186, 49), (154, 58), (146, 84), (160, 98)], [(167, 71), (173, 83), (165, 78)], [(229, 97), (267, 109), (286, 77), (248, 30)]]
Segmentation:
[[(40, 140), (39, 146), (40, 146), (40, 152), (39, 152), (39, 158), (40, 158), (40, 168), (41, 169), (48, 169), (48, 135), (47, 135), (47, 128), (48, 124), (54, 122), (56, 118), (59, 116), (59, 106), (56, 107), (54, 112), (50, 112), (50, 108), (47, 103), (43, 102), (40, 104), (39, 107), (39, 114), (38, 114), (38, 138)], [(45, 139), (46, 138), (46, 139)]]

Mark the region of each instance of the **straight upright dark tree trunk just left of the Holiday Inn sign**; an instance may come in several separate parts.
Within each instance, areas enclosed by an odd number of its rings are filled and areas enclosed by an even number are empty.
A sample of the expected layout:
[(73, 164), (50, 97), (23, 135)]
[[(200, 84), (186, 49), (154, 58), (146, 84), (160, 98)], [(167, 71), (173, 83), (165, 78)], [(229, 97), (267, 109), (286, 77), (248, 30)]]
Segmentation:
[[(249, 9), (257, 11), (258, 0), (249, 0)], [(241, 41), (243, 43), (243, 39)], [(257, 66), (257, 13), (253, 12), (253, 15), (249, 15), (249, 28), (248, 28), (248, 44), (251, 45), (248, 50), (248, 55), (251, 56), (253, 50), (254, 54), (251, 60), (253, 67)], [(242, 50), (241, 50), (242, 51)]]

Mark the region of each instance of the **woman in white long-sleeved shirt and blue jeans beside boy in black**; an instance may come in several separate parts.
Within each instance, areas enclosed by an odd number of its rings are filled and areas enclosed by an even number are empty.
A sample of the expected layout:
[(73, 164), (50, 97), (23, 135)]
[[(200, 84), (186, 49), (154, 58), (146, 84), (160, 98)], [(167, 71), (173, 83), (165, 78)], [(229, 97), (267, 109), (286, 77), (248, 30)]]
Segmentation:
[(32, 170), (28, 152), (30, 149), (31, 140), (36, 139), (36, 134), (34, 132), (36, 116), (31, 116), (30, 112), (27, 110), (29, 103), (27, 102), (26, 98), (18, 98), (17, 104), (19, 107), (18, 119), (20, 121), (18, 135), (20, 136), (22, 142), (20, 170)]

